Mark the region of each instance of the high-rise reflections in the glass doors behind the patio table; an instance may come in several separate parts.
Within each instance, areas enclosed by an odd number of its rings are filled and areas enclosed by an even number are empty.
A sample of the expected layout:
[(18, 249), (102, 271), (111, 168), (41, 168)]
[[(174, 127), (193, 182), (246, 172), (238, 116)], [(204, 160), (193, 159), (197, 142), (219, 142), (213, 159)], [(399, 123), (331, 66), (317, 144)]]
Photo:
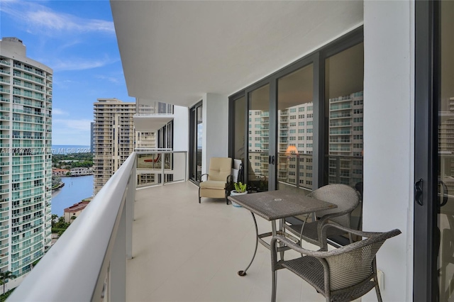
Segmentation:
[[(329, 102), (329, 183), (354, 186), (362, 181), (362, 91), (329, 99)], [(264, 174), (268, 169), (267, 155), (260, 153), (268, 150), (268, 118), (268, 111), (249, 113), (249, 150), (254, 152), (250, 164), (255, 174)], [(313, 121), (312, 102), (278, 111), (278, 151), (279, 157), (285, 158), (277, 167), (278, 181), (294, 185), (299, 181), (300, 187), (311, 189)], [(298, 156), (288, 154), (290, 146), (295, 147)]]

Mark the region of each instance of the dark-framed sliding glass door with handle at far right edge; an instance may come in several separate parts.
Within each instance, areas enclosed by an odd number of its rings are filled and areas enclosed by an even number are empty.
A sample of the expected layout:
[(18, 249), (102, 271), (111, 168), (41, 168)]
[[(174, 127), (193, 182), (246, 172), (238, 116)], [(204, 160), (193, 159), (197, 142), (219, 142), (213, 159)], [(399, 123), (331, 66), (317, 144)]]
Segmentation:
[(416, 1), (415, 300), (454, 300), (453, 32), (453, 1)]

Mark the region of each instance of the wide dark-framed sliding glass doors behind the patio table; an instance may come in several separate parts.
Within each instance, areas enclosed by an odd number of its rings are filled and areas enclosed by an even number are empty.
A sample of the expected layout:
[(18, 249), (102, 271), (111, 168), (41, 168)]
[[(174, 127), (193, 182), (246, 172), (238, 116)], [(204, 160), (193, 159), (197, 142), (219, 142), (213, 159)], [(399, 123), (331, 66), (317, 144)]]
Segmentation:
[[(231, 97), (229, 154), (246, 159), (250, 191), (309, 192), (332, 183), (360, 188), (362, 40), (362, 28), (353, 30)], [(238, 134), (243, 121), (245, 155)]]

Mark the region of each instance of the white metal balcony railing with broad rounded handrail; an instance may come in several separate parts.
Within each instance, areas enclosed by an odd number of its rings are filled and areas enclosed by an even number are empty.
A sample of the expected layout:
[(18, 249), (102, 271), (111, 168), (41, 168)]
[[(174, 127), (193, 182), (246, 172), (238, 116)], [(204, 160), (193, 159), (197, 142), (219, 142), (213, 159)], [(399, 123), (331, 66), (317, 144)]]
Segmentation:
[[(187, 180), (186, 152), (155, 151), (165, 175)], [(9, 301), (126, 301), (126, 259), (131, 259), (138, 165), (133, 152), (84, 212), (57, 240)], [(151, 171), (153, 172), (153, 171)], [(82, 277), (81, 277), (82, 276)], [(77, 289), (74, 291), (74, 289)], [(70, 296), (68, 296), (70, 295)]]

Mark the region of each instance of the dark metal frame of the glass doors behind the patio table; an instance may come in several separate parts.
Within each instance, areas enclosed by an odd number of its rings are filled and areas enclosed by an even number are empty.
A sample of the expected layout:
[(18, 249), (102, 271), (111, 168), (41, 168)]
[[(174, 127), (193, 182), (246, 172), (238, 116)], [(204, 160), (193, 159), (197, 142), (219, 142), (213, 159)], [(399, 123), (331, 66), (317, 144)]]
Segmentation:
[[(355, 28), (354, 30), (350, 31), (350, 33), (345, 34), (343, 37), (338, 38), (337, 40), (324, 45), (319, 50), (315, 50), (310, 54), (302, 57), (301, 59), (297, 60), (296, 62), (282, 67), (277, 72), (270, 74), (269, 76), (259, 80), (255, 84), (238, 91), (236, 94), (229, 96), (229, 116), (233, 116), (233, 101), (239, 99), (241, 96), (246, 96), (246, 113), (245, 119), (248, 122), (248, 112), (249, 112), (249, 103), (250, 103), (250, 92), (260, 88), (261, 86), (265, 86), (266, 84), (270, 84), (270, 125), (273, 127), (270, 128), (270, 155), (274, 155), (275, 159), (277, 159), (277, 81), (279, 78), (286, 76), (292, 72), (295, 72), (297, 69), (305, 67), (307, 65), (313, 64), (314, 66), (314, 90), (313, 90), (313, 103), (314, 103), (314, 140), (313, 140), (313, 183), (312, 186), (314, 189), (319, 188), (325, 184), (328, 184), (327, 177), (323, 175), (328, 167), (328, 158), (325, 155), (328, 155), (327, 148), (328, 142), (325, 142), (324, 139), (326, 138), (326, 133), (328, 131), (327, 126), (324, 123), (324, 101), (325, 101), (325, 60), (327, 57), (331, 57), (332, 55), (336, 55), (338, 52), (342, 52), (343, 50), (348, 49), (349, 47), (353, 47), (358, 43), (362, 43), (364, 41), (364, 33), (362, 26), (359, 28)], [(229, 123), (229, 133), (233, 133), (233, 118), (230, 118)], [(246, 123), (245, 127), (245, 150), (248, 150), (248, 123)], [(272, 136), (275, 135), (275, 136)], [(233, 157), (233, 135), (229, 135), (229, 156)], [(326, 157), (326, 158), (325, 158)], [(245, 158), (248, 158), (248, 152), (245, 152)], [(277, 163), (277, 160), (276, 160)], [(248, 166), (248, 165), (245, 165)], [(269, 166), (270, 167), (270, 166)], [(271, 170), (272, 168), (272, 170)], [(245, 167), (245, 181), (247, 180), (246, 177), (248, 175), (248, 171), (246, 170), (248, 167)], [(270, 178), (268, 189), (275, 190), (276, 189), (276, 181), (277, 181), (277, 164), (273, 167), (270, 167), (269, 170), (270, 177), (272, 175), (272, 179)]]

